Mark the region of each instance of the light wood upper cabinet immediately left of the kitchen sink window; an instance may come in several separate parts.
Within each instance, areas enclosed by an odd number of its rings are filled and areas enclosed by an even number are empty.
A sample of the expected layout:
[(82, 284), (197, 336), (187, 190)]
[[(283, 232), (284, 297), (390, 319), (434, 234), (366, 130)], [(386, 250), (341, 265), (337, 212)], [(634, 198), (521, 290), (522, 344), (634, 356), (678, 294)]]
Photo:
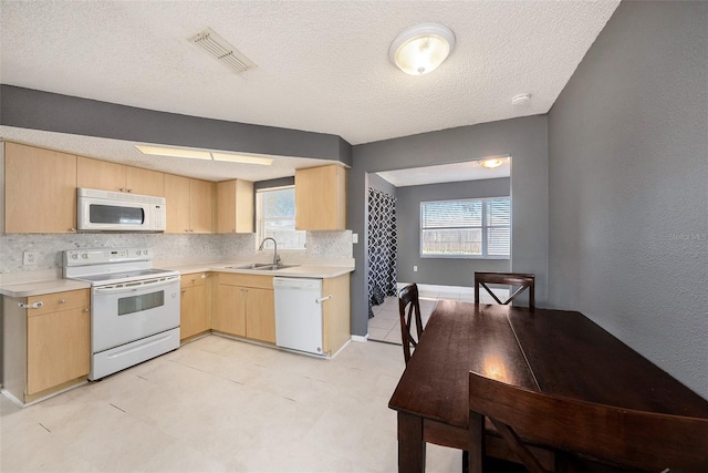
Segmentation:
[(217, 233), (253, 233), (253, 183), (235, 179), (217, 184)]

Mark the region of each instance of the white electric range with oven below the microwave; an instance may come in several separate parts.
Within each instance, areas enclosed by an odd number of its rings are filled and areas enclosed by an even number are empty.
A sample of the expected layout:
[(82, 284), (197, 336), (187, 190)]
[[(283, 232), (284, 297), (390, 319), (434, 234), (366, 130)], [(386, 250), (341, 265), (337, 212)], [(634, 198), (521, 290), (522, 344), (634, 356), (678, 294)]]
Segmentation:
[(63, 274), (91, 282), (90, 380), (179, 348), (179, 273), (152, 249), (69, 249)]

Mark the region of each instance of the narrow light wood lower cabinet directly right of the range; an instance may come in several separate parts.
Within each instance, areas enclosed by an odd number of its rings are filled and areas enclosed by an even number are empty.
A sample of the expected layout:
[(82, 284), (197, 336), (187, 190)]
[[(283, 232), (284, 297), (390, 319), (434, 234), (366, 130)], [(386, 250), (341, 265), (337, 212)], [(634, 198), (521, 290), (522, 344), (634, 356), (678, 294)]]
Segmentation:
[(180, 278), (180, 340), (201, 335), (210, 329), (209, 280), (210, 275), (208, 273), (183, 275)]

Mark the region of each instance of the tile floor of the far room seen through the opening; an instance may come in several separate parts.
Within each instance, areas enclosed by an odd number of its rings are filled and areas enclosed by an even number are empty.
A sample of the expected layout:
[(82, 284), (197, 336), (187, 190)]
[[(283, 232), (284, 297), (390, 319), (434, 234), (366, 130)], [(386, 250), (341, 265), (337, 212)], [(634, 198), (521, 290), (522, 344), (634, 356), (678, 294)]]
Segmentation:
[[(430, 312), (439, 299), (475, 301), (472, 292), (424, 291), (418, 295), (423, 327), (428, 322)], [(482, 298), (485, 300), (485, 298)], [(381, 306), (374, 306), (374, 317), (368, 319), (368, 339), (400, 345), (400, 322), (398, 317), (398, 298), (389, 296)]]

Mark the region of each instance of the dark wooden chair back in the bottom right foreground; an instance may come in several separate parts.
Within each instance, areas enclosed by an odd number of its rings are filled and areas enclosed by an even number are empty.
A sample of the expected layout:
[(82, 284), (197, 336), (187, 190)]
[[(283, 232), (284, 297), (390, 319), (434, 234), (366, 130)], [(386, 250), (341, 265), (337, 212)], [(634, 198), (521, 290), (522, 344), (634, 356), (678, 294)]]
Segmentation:
[[(631, 411), (543, 394), (469, 373), (470, 451), (483, 449), (480, 414), (488, 417), (531, 473), (545, 470), (520, 436), (614, 466), (662, 472), (708, 471), (708, 419)], [(471, 466), (471, 465), (470, 465)], [(561, 471), (566, 462), (558, 462)], [(475, 469), (470, 469), (475, 471)]]

